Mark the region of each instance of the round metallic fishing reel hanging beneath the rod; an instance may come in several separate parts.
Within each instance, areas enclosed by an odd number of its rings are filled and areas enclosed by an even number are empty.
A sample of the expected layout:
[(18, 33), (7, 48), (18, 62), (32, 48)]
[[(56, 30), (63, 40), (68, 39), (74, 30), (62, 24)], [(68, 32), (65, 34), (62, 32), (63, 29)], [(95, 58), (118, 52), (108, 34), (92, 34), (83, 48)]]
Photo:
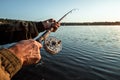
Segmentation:
[(57, 54), (62, 50), (62, 42), (61, 40), (50, 36), (44, 41), (44, 49), (50, 54)]

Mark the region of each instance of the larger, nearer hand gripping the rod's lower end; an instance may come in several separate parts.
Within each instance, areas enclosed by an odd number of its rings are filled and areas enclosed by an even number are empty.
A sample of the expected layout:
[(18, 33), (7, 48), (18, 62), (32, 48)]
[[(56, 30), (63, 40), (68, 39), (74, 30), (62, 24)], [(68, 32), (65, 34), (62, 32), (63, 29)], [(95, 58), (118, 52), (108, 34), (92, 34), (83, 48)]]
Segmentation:
[(42, 45), (33, 39), (22, 40), (9, 48), (22, 62), (23, 65), (36, 64), (41, 59), (40, 48)]

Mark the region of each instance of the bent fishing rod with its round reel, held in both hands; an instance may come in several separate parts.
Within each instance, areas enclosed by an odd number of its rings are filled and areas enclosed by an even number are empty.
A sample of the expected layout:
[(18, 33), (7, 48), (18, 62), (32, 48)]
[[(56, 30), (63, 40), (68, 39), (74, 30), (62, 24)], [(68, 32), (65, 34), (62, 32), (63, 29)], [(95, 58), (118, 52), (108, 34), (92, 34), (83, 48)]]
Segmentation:
[[(72, 9), (66, 14), (64, 14), (57, 22), (61, 22), (68, 14), (70, 14), (72, 11), (76, 9)], [(50, 26), (52, 26), (53, 23), (50, 23)], [(50, 33), (54, 30), (53, 27), (50, 29), (46, 30), (39, 38), (37, 38), (38, 42), (43, 42), (44, 41), (44, 48), (47, 52), (51, 54), (56, 54), (59, 51), (62, 50), (62, 43), (61, 40), (58, 40), (55, 37), (49, 37)]]

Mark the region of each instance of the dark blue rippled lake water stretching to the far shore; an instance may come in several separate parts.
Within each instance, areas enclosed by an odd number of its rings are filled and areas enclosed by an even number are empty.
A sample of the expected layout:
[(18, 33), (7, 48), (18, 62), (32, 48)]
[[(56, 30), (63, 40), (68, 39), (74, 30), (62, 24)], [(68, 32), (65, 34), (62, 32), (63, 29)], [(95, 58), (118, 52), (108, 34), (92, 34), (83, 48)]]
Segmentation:
[(42, 63), (13, 80), (120, 80), (120, 26), (61, 26), (51, 36), (62, 40), (62, 51), (42, 49)]

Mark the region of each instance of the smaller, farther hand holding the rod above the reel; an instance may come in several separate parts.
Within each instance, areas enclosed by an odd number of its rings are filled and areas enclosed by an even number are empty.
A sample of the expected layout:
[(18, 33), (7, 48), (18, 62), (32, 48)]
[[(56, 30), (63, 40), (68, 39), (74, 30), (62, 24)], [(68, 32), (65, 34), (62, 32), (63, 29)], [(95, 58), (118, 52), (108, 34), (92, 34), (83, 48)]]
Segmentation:
[(46, 30), (53, 27), (54, 29), (52, 32), (55, 32), (58, 29), (58, 27), (60, 26), (60, 23), (56, 22), (54, 19), (45, 20), (42, 22), (42, 24), (44, 25), (44, 28)]

